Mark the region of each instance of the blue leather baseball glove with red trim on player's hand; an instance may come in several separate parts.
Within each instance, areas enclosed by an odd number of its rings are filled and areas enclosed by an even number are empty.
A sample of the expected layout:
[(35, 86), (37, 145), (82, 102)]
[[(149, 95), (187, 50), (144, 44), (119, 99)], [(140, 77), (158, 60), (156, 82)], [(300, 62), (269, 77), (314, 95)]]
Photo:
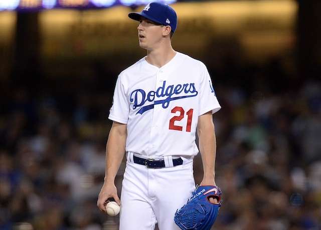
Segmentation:
[[(187, 203), (175, 213), (175, 223), (183, 230), (210, 230), (221, 206), (221, 189), (217, 186), (197, 186)], [(211, 203), (209, 198), (217, 199)]]

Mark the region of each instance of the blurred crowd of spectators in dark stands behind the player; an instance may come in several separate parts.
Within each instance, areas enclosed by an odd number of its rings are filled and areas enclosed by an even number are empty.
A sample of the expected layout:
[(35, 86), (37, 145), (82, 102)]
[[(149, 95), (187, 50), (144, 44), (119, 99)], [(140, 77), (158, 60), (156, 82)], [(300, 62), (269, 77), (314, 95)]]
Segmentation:
[[(213, 116), (223, 193), (213, 229), (321, 229), (321, 84), (292, 84), (273, 68), (210, 71), (222, 105)], [(116, 79), (105, 77), (108, 86), (49, 80), (1, 94), (0, 230), (118, 229), (118, 216), (96, 207)]]

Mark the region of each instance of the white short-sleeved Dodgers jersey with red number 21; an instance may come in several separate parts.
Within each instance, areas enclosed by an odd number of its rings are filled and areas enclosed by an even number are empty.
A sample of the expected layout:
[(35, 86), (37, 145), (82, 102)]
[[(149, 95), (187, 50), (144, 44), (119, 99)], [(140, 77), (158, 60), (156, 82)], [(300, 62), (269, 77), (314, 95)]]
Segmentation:
[(127, 152), (191, 158), (198, 117), (220, 108), (206, 66), (178, 52), (162, 68), (142, 58), (122, 71), (108, 118), (127, 124)]

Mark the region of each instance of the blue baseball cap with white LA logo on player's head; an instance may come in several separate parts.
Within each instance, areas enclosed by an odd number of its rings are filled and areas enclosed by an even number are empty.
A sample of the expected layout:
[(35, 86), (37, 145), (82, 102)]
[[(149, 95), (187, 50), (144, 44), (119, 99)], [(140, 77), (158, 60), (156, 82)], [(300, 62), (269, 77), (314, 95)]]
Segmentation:
[(141, 13), (132, 12), (128, 17), (139, 21), (140, 17), (149, 19), (155, 23), (165, 26), (171, 26), (172, 31), (175, 32), (177, 27), (177, 15), (173, 8), (164, 3), (149, 3)]

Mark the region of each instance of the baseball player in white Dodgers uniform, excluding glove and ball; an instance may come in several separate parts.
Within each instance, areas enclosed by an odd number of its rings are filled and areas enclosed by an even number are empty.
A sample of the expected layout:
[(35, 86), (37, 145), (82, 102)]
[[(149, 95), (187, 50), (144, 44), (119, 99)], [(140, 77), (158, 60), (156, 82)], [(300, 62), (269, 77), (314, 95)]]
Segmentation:
[[(139, 46), (147, 55), (116, 82), (97, 206), (105, 212), (105, 201), (115, 199), (120, 230), (150, 230), (156, 223), (161, 230), (179, 230), (174, 215), (195, 189), (193, 158), (199, 152), (204, 168), (200, 185), (216, 185), (212, 114), (221, 107), (206, 66), (172, 48), (177, 28), (173, 8), (150, 3), (128, 16), (139, 22)], [(114, 180), (124, 154), (120, 200)]]

